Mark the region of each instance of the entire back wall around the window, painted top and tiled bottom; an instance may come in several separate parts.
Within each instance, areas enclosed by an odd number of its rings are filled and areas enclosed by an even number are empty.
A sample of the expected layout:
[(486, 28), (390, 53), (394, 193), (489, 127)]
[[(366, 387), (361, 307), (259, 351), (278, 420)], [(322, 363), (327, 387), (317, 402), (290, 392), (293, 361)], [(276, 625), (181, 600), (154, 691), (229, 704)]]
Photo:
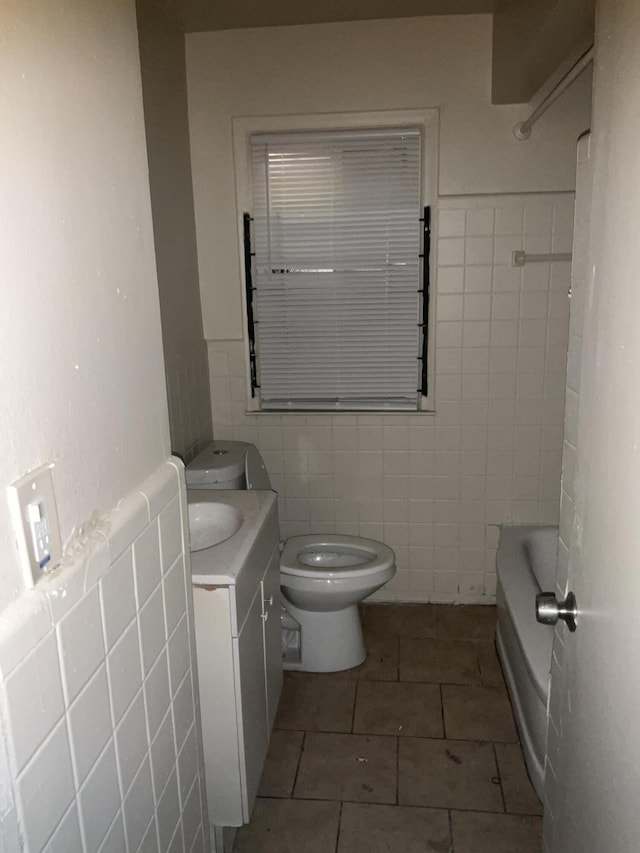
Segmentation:
[[(492, 601), (495, 525), (558, 517), (569, 265), (510, 259), (570, 247), (571, 197), (555, 193), (574, 187), (588, 76), (526, 143), (511, 131), (527, 108), (490, 102), (490, 16), (192, 34), (187, 79), (214, 434), (264, 451), (285, 534), (393, 545), (381, 597)], [(247, 417), (233, 117), (434, 106), (435, 417)]]

